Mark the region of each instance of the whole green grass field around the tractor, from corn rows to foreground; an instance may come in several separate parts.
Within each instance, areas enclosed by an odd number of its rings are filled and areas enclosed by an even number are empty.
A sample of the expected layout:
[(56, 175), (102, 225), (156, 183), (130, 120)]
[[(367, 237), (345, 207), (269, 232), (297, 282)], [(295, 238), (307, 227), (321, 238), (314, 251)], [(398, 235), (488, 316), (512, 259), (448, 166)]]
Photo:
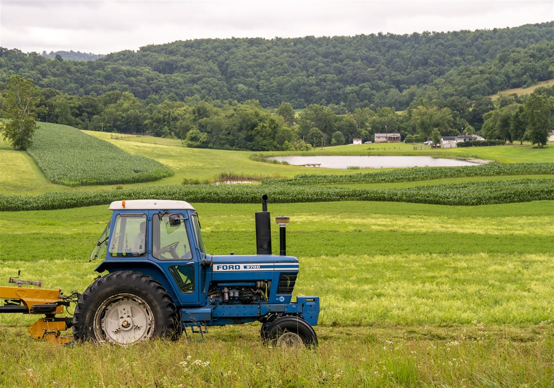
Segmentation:
[[(258, 205), (194, 205), (209, 252), (255, 252)], [(0, 279), (22, 269), (84, 290), (106, 207), (0, 213)], [(552, 386), (553, 201), (269, 210), (291, 217), (295, 293), (321, 298), (317, 349), (266, 348), (259, 324), (212, 329), (203, 343), (66, 348), (33, 341), (33, 318), (10, 314), (0, 386)]]

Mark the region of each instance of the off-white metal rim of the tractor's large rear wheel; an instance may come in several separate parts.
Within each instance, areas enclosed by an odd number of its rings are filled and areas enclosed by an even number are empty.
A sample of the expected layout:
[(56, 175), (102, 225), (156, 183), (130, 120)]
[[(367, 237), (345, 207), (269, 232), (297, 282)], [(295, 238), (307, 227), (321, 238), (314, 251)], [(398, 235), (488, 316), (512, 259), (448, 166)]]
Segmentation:
[(104, 300), (94, 315), (96, 339), (131, 345), (150, 339), (154, 332), (152, 310), (144, 299), (117, 294)]

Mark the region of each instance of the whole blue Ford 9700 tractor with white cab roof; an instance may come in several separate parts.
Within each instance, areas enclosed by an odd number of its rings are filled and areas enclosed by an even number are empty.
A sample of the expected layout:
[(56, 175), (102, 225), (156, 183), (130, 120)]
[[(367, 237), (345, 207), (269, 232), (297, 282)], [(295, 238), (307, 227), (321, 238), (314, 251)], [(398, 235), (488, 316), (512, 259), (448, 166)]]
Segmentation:
[(271, 254), (267, 196), (255, 213), (257, 254), (211, 256), (198, 213), (170, 200), (116, 201), (91, 259), (106, 249), (96, 278), (75, 307), (78, 341), (119, 345), (152, 338), (178, 339), (207, 326), (260, 321), (261, 339), (275, 345), (317, 345), (312, 325), (319, 297), (292, 301), (298, 259), (286, 256), (288, 217), (277, 217), (280, 255)]

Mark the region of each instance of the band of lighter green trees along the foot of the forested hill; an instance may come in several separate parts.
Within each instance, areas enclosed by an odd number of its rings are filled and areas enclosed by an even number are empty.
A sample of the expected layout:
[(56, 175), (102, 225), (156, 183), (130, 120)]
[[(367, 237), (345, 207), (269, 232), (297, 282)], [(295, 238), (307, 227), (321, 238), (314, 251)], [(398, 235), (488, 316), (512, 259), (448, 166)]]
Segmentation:
[[(172, 137), (189, 147), (227, 150), (309, 150), (348, 144), (355, 137), (373, 141), (376, 133), (384, 132), (399, 133), (407, 142), (480, 134), (489, 140), (529, 140), (541, 146), (552, 129), (554, 111), (554, 86), (537, 88), (531, 95), (502, 94), (496, 101), (420, 98), (400, 112), (347, 101), (310, 104), (299, 113), (289, 102), (265, 109), (257, 100), (205, 101), (193, 96), (179, 101), (170, 95), (156, 104), (122, 91), (98, 97), (68, 95), (37, 88), (32, 80), (19, 76), (12, 76), (4, 86), (4, 117), (13, 119), (4, 136), (19, 133), (12, 141), (17, 149), (27, 147), (35, 119), (80, 129)], [(28, 126), (17, 127), (22, 122)]]

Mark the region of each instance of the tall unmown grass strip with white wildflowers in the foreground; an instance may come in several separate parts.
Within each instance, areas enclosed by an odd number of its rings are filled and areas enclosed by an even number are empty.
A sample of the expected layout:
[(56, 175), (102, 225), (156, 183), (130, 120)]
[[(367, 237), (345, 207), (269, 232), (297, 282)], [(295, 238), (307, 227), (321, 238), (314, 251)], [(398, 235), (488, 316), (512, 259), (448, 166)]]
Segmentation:
[[(0, 333), (0, 386), (546, 388), (551, 330), (329, 328), (318, 330), (319, 348), (306, 350), (266, 348), (255, 325), (213, 330), (204, 343), (132, 348), (53, 346), (8, 329)], [(478, 331), (486, 338), (462, 338)]]

